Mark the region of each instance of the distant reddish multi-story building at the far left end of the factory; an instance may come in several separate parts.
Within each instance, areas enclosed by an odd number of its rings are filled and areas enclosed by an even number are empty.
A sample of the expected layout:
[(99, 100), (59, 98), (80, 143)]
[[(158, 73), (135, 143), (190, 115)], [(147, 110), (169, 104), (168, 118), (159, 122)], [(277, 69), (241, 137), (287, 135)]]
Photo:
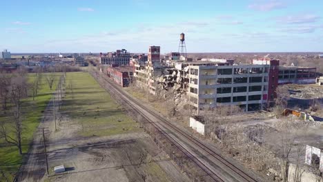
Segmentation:
[(103, 65), (129, 65), (130, 57), (131, 54), (125, 49), (108, 52), (108, 54), (100, 53), (100, 63)]

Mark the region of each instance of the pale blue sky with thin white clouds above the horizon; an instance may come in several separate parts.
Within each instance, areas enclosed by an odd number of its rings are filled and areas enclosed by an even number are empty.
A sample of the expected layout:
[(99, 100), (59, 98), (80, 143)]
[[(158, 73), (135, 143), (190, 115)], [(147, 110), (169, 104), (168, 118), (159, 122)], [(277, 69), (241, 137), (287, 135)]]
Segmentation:
[(0, 49), (322, 52), (322, 0), (1, 1)]

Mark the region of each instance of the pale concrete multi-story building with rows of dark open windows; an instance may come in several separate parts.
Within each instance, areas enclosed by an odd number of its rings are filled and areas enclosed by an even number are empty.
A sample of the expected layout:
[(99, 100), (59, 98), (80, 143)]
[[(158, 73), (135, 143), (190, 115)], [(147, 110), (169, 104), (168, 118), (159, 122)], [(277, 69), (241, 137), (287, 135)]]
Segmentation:
[(239, 105), (246, 111), (264, 108), (270, 65), (190, 65), (189, 101), (197, 111)]

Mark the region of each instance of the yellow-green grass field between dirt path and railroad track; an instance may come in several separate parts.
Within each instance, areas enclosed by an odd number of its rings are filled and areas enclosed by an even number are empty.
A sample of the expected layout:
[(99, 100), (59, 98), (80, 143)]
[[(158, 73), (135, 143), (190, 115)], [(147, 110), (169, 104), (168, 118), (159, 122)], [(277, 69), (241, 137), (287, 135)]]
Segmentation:
[(67, 74), (63, 110), (83, 126), (81, 136), (110, 136), (140, 130), (138, 123), (87, 72)]

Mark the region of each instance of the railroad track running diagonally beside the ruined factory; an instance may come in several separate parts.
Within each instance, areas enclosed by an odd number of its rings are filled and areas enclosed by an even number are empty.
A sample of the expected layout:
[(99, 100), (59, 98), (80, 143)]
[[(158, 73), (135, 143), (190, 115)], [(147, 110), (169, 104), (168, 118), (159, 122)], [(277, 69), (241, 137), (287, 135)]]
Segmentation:
[[(95, 77), (95, 75), (92, 75)], [(99, 75), (100, 77), (101, 75)], [(124, 90), (119, 88), (117, 85), (112, 83), (110, 79), (106, 77), (101, 77), (108, 83), (109, 91), (112, 90), (115, 94), (118, 94), (135, 112), (139, 113), (144, 117), (150, 124), (152, 124), (161, 134), (167, 137), (179, 150), (184, 152), (199, 168), (204, 170), (208, 176), (211, 177), (213, 181), (261, 181), (255, 179), (255, 177), (247, 174), (240, 168), (237, 168), (233, 163), (224, 159), (220, 154), (217, 154), (214, 150), (206, 146), (204, 143), (195, 139), (195, 137), (190, 136), (183, 130), (180, 130), (176, 125), (170, 123), (168, 120), (161, 117), (159, 114), (147, 108), (145, 105), (130, 97)], [(104, 85), (103, 85), (104, 86)], [(155, 117), (158, 121), (153, 121), (149, 115)], [(161, 122), (160, 122), (161, 121)], [(165, 131), (166, 130), (166, 131)], [(190, 145), (188, 147), (188, 145)], [(202, 155), (202, 156), (200, 156)], [(224, 168), (219, 167), (222, 165)], [(219, 172), (220, 171), (220, 172)], [(226, 172), (224, 175), (222, 172)], [(220, 173), (220, 174), (219, 174)], [(229, 175), (229, 176), (228, 176)]]

